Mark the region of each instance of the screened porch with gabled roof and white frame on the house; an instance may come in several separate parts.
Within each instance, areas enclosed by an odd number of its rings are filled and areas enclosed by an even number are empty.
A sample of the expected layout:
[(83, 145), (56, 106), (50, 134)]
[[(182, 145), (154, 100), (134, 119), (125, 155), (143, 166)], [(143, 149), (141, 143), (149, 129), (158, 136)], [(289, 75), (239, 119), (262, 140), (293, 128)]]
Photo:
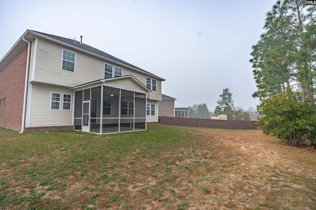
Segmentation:
[(98, 134), (146, 130), (149, 91), (132, 76), (75, 87), (74, 129)]

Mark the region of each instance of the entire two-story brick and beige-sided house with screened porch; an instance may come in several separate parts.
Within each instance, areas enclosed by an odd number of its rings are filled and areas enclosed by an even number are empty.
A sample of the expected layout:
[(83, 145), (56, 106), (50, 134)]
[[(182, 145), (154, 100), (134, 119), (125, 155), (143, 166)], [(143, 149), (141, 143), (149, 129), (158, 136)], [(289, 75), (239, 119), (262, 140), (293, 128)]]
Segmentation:
[[(164, 79), (81, 41), (26, 30), (0, 60), (0, 126), (99, 134), (158, 123)], [(3, 103), (5, 101), (5, 103)]]

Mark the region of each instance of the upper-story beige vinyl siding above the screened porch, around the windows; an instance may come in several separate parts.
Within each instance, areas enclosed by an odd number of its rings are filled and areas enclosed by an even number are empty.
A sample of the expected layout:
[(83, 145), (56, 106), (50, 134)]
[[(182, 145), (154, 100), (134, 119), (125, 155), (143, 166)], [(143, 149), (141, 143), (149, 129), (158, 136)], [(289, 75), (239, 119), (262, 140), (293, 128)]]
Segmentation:
[[(61, 70), (63, 49), (76, 53), (75, 72)], [(161, 80), (108, 60), (102, 60), (74, 49), (63, 47), (42, 38), (38, 38), (36, 57), (35, 81), (70, 87), (89, 83), (104, 78), (104, 63), (106, 62), (122, 68), (122, 76), (133, 75), (144, 86), (146, 86), (146, 77), (156, 79), (157, 91), (151, 92), (150, 98), (161, 100)]]

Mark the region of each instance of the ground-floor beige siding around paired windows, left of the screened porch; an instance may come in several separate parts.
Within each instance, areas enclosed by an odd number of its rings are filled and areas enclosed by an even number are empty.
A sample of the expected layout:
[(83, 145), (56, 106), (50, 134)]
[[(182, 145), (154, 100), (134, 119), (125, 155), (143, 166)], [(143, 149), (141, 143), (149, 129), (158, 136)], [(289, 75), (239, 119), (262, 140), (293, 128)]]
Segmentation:
[[(50, 110), (51, 92), (61, 93), (60, 110)], [(63, 93), (72, 95), (71, 111), (62, 110)], [(73, 90), (36, 83), (33, 84), (30, 127), (72, 125), (73, 103)]]

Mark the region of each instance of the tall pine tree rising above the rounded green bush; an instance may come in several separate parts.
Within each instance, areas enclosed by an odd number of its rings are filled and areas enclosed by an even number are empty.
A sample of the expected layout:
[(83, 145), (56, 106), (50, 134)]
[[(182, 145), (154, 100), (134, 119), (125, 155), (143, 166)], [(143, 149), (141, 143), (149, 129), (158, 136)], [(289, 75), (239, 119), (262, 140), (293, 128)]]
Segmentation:
[(306, 0), (278, 0), (267, 13), (265, 33), (252, 47), (252, 67), (261, 100), (286, 87), (312, 101), (316, 79), (316, 7)]

